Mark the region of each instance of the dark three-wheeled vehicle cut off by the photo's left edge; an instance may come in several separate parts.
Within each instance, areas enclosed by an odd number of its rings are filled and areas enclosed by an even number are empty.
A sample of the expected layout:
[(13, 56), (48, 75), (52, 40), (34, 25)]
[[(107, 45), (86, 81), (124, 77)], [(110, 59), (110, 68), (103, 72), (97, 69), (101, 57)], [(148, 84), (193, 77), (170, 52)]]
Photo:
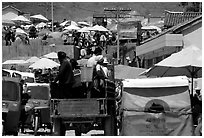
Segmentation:
[(22, 106), (20, 80), (2, 77), (3, 135), (18, 135)]

